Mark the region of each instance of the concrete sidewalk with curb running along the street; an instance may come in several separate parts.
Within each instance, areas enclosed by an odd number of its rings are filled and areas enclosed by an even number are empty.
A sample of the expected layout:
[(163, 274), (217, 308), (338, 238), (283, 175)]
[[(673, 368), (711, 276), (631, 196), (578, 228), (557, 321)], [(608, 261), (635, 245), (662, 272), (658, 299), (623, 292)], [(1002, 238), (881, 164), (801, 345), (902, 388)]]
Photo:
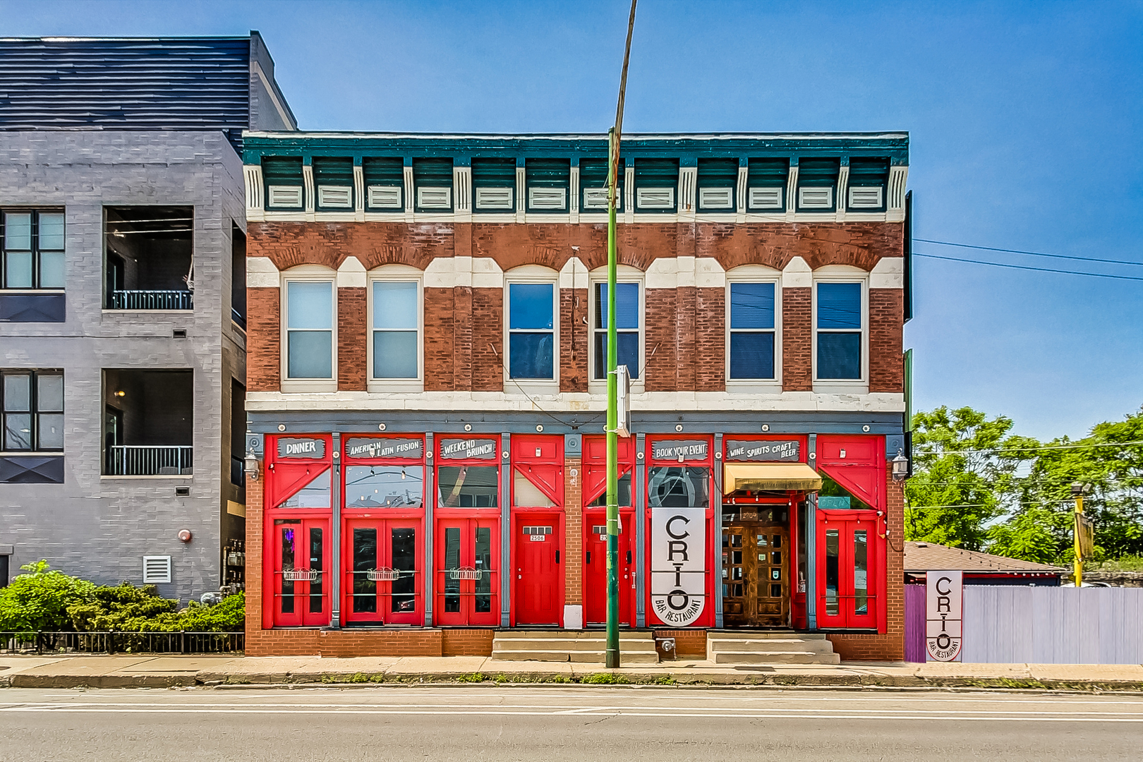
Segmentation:
[(494, 661), (482, 656), (7, 656), (0, 687), (170, 688), (273, 684), (583, 683), (757, 687), (1143, 690), (1143, 666), (1111, 664), (878, 664), (729, 667), (681, 658), (658, 665)]

